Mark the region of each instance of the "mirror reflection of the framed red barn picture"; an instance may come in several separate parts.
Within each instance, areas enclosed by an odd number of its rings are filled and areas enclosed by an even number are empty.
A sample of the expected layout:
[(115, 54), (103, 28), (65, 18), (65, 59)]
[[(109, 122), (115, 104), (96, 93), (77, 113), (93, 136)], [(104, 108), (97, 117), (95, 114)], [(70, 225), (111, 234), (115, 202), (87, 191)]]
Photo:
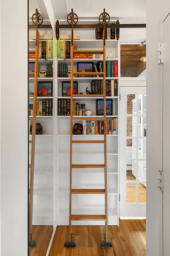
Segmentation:
[(53, 96), (53, 83), (52, 82), (38, 82), (37, 97), (51, 97)]

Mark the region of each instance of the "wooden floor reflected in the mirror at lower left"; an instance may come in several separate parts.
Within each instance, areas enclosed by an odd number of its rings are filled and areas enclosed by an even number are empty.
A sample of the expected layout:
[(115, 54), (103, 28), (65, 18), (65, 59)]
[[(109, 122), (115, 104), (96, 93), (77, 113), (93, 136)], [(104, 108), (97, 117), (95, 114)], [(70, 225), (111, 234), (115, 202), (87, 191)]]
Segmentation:
[(33, 240), (36, 246), (30, 248), (30, 256), (45, 256), (53, 234), (53, 226), (33, 226)]

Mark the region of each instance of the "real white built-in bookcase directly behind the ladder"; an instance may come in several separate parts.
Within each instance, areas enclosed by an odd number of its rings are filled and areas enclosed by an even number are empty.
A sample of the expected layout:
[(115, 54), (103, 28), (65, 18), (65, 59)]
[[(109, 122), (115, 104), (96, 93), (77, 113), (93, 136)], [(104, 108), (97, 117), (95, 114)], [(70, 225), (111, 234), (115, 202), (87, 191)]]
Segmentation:
[[(66, 34), (60, 31), (60, 34)], [(67, 34), (69, 31), (67, 31)], [(95, 30), (74, 30), (74, 34), (80, 35), (80, 40), (74, 40), (78, 50), (102, 50), (102, 40), (95, 40)], [(86, 39), (88, 38), (88, 40)], [(106, 61), (120, 61), (119, 42), (106, 40), (106, 51), (112, 52), (113, 57)], [(99, 60), (93, 55), (93, 59), (74, 59), (73, 71), (77, 72), (77, 62), (92, 61), (94, 65)], [(56, 59), (55, 64), (67, 63), (71, 68), (71, 60)], [(57, 72), (56, 72), (57, 74)], [(91, 81), (100, 80), (100, 77), (73, 77), (73, 82), (78, 82), (78, 94), (86, 94), (85, 88), (91, 91)], [(119, 77), (107, 77), (106, 79), (119, 79)], [(62, 82), (70, 81), (68, 77), (55, 77), (56, 104), (62, 97)], [(119, 82), (118, 82), (119, 83)], [(119, 93), (119, 92), (118, 92)], [(69, 98), (69, 97), (65, 97)], [(101, 97), (102, 99), (103, 97)], [(118, 96), (106, 97), (113, 100), (113, 117), (119, 118)], [(76, 96), (74, 100), (79, 104), (85, 103), (85, 109), (91, 109), (92, 119), (96, 116), (96, 99), (100, 97)], [(57, 114), (57, 113), (56, 113)], [(56, 116), (56, 221), (57, 225), (69, 225), (69, 182), (70, 182), (70, 116)], [(83, 124), (79, 116), (73, 123)], [(102, 140), (104, 135), (73, 135), (73, 140)], [(104, 146), (102, 144), (73, 144), (73, 164), (103, 164)], [(104, 188), (103, 169), (73, 169), (72, 188)], [(119, 132), (116, 135), (107, 135), (107, 188), (108, 188), (108, 225), (119, 223)], [(72, 214), (105, 214), (104, 195), (72, 195)], [(104, 221), (72, 221), (72, 225), (105, 225)]]

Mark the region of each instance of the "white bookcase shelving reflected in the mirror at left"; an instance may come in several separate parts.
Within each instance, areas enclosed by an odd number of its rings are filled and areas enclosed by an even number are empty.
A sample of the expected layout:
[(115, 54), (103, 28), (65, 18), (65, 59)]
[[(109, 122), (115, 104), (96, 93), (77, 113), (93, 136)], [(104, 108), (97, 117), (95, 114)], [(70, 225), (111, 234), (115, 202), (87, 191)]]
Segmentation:
[[(39, 29), (39, 32), (40, 34), (53, 34), (52, 29)], [(29, 50), (35, 49), (35, 40), (33, 40), (33, 35), (35, 34), (35, 29), (29, 29)], [(29, 59), (29, 62), (35, 62), (35, 60)], [(41, 69), (47, 70), (47, 63), (53, 65), (53, 59), (39, 59), (39, 72)], [(53, 77), (38, 77), (38, 82), (52, 82), (52, 96), (37, 97), (37, 101), (42, 101), (43, 99), (53, 100), (53, 108), (55, 108), (53, 97), (55, 93)], [(30, 94), (33, 90), (34, 77), (29, 77), (28, 94), (30, 104), (33, 104), (33, 96)], [(54, 114), (52, 116), (37, 116), (36, 123), (41, 124), (43, 134), (35, 136), (33, 225), (53, 225)], [(29, 140), (31, 140), (31, 138), (32, 135), (29, 135)], [(31, 144), (29, 144), (29, 147), (29, 156), (31, 159)]]

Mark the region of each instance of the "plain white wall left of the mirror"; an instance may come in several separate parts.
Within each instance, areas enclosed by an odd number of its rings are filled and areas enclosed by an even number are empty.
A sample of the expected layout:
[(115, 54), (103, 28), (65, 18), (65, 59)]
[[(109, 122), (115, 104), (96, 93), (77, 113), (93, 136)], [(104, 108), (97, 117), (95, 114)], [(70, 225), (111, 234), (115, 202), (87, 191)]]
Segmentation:
[(0, 18), (1, 255), (26, 256), (27, 1), (1, 0)]

